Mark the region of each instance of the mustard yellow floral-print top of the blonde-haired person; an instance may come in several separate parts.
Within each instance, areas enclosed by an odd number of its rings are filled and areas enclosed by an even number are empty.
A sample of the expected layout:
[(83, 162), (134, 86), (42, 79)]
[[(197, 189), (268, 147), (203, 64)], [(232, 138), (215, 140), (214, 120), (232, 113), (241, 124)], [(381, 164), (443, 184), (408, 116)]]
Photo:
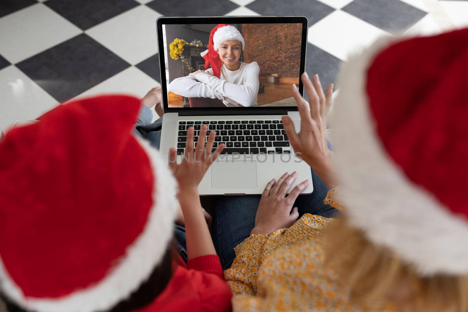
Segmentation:
[[(336, 189), (323, 201), (341, 210)], [(249, 311), (393, 311), (388, 304), (366, 310), (347, 300), (332, 268), (324, 268), (322, 230), (332, 219), (303, 215), (294, 225), (270, 235), (253, 234), (235, 247), (236, 258), (224, 271), (234, 293), (233, 310)]]

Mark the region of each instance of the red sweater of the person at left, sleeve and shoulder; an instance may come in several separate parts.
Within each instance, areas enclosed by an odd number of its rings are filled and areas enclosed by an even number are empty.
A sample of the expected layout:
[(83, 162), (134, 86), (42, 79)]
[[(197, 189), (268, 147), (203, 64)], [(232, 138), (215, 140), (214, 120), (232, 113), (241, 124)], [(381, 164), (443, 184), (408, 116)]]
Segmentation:
[(231, 289), (217, 255), (181, 259), (164, 291), (139, 312), (231, 311)]

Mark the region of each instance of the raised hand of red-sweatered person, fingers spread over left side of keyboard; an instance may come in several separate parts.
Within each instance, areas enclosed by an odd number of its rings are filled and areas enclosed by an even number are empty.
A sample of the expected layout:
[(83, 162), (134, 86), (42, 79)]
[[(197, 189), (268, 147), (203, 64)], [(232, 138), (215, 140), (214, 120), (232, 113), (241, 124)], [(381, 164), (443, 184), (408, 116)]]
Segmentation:
[(207, 125), (201, 127), (197, 145), (194, 149), (194, 128), (190, 126), (187, 130), (187, 140), (185, 145), (185, 152), (182, 158), (182, 163), (176, 162), (176, 149), (171, 147), (169, 149), (169, 167), (172, 173), (179, 182), (179, 192), (185, 191), (198, 191), (198, 184), (202, 181), (203, 176), (208, 170), (218, 154), (223, 150), (224, 144), (219, 144), (212, 153), (214, 138), (216, 131), (211, 131), (208, 135), (208, 141), (205, 146), (205, 136), (208, 129)]

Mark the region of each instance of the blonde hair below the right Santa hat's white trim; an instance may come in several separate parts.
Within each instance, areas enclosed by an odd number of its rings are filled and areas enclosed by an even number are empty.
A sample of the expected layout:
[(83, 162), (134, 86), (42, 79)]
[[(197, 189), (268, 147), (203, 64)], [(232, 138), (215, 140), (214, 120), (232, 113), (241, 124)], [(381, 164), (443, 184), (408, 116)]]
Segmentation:
[(372, 306), (386, 301), (410, 311), (468, 312), (468, 275), (420, 276), (397, 254), (347, 225), (345, 217), (334, 223), (324, 235), (325, 263), (337, 270), (351, 302)]

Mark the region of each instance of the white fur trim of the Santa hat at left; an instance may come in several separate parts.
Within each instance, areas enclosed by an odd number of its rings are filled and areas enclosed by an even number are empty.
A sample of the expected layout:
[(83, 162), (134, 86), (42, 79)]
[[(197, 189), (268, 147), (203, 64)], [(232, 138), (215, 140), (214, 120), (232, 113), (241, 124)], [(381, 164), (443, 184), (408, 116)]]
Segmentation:
[(13, 302), (35, 312), (106, 311), (138, 290), (161, 262), (173, 237), (176, 208), (179, 205), (176, 200), (177, 184), (159, 152), (145, 140), (136, 139), (146, 151), (153, 168), (154, 205), (143, 232), (127, 248), (124, 258), (95, 285), (57, 299), (24, 297), (0, 258), (1, 289)]

